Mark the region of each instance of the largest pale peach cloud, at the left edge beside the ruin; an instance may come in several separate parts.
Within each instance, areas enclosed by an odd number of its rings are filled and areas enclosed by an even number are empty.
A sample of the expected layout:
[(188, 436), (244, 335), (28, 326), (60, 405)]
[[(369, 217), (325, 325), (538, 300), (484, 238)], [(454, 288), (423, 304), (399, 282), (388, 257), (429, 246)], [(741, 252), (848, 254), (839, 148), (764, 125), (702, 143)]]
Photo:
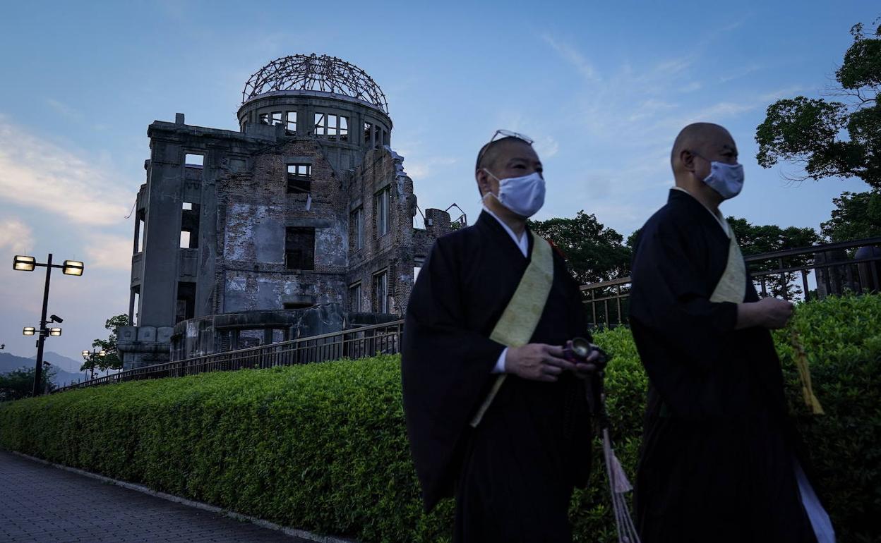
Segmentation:
[(73, 224), (115, 224), (134, 194), (106, 164), (29, 134), (0, 116), (0, 199), (63, 216)]

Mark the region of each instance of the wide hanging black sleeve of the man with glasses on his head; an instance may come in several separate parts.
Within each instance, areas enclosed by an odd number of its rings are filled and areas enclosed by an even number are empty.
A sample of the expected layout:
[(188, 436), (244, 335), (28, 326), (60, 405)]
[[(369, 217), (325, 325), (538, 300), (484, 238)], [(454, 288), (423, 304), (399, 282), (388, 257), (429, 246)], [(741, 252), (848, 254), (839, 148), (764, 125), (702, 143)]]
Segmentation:
[(403, 407), (426, 509), (451, 491), (460, 438), (496, 378), (492, 370), (505, 349), (465, 327), (463, 253), (455, 239), (435, 242), (404, 321)]

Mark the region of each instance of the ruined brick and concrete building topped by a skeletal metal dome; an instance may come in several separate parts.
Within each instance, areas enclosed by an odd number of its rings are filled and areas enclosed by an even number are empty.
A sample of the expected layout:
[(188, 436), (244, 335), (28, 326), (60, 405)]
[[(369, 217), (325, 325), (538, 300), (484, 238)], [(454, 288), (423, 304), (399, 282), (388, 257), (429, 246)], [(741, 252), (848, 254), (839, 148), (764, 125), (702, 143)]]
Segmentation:
[(126, 368), (397, 319), (450, 216), (416, 198), (380, 87), (337, 58), (252, 76), (240, 131), (147, 130)]

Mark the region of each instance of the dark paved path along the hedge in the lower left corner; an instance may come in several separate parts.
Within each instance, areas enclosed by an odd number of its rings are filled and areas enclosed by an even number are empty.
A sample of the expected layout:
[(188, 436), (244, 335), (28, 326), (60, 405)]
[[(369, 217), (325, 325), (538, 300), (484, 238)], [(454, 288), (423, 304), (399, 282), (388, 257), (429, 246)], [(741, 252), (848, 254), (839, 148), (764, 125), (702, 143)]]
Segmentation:
[(307, 543), (0, 451), (0, 541)]

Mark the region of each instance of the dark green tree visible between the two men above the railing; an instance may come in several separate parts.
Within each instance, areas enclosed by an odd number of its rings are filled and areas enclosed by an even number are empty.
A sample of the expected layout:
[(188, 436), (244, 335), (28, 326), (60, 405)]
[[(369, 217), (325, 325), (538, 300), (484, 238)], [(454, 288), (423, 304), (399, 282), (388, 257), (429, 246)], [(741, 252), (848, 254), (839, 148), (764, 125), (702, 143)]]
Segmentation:
[(579, 211), (574, 218), (529, 221), (529, 228), (550, 239), (580, 283), (596, 283), (626, 277), (630, 273), (631, 250), (617, 231), (607, 228), (596, 216)]

